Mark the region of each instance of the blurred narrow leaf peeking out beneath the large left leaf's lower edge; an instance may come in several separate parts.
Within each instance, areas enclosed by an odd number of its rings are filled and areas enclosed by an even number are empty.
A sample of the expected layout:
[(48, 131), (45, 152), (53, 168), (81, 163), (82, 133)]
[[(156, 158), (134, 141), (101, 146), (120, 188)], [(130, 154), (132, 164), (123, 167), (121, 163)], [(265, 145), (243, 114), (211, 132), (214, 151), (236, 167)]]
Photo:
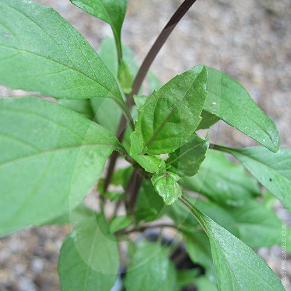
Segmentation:
[(76, 223), (81, 222), (83, 220), (87, 220), (95, 216), (97, 212), (95, 212), (93, 209), (88, 208), (83, 203), (78, 205), (75, 209), (71, 211), (67, 211), (65, 214), (62, 214), (58, 217), (55, 217), (49, 221), (47, 221), (46, 224), (67, 224), (67, 223)]

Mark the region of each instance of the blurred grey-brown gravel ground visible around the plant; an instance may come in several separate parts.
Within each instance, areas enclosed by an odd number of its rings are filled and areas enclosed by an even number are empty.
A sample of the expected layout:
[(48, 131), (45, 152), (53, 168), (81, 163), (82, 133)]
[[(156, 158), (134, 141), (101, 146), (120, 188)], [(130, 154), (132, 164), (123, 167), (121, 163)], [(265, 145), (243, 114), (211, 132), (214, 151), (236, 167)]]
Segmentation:
[[(110, 26), (75, 7), (69, 0), (35, 0), (51, 6), (98, 49), (112, 35)], [(123, 43), (140, 64), (158, 33), (182, 0), (129, 0)], [(277, 125), (281, 146), (291, 147), (291, 1), (197, 0), (184, 16), (151, 70), (162, 84), (192, 66), (205, 64), (239, 81)], [(0, 87), (1, 96), (19, 90)], [(202, 133), (204, 134), (204, 132)], [(245, 147), (256, 142), (219, 121), (210, 141)], [(291, 225), (279, 203), (277, 215)], [(58, 291), (57, 260), (69, 226), (28, 228), (0, 239), (0, 291)], [(281, 248), (262, 248), (259, 255), (281, 275)], [(291, 256), (287, 256), (287, 291), (291, 291)]]

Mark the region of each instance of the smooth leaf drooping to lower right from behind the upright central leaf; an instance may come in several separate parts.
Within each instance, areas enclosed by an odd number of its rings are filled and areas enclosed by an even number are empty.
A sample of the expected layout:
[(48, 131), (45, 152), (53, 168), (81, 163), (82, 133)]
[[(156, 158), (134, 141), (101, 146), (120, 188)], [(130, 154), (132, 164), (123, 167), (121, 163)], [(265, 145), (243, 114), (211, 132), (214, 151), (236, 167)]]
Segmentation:
[(259, 109), (240, 83), (208, 68), (207, 91), (204, 110), (273, 152), (278, 151), (279, 133), (275, 123)]

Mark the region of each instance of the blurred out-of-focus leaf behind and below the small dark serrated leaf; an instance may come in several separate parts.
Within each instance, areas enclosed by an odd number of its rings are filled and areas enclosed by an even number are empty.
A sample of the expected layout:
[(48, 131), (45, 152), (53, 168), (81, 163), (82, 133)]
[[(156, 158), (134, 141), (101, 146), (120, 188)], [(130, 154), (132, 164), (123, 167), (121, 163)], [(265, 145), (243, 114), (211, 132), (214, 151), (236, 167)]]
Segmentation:
[(252, 196), (260, 195), (257, 181), (247, 175), (241, 165), (211, 150), (207, 151), (198, 174), (183, 177), (179, 183), (222, 205), (242, 206)]

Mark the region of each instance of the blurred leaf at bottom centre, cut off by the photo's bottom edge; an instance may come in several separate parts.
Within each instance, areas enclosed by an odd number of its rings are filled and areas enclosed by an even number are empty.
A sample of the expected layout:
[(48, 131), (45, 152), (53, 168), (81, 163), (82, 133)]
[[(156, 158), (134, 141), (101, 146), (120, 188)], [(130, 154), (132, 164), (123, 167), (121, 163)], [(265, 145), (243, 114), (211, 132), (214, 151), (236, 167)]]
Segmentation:
[(174, 264), (167, 257), (167, 249), (149, 242), (139, 247), (125, 276), (127, 291), (169, 291), (176, 284)]

